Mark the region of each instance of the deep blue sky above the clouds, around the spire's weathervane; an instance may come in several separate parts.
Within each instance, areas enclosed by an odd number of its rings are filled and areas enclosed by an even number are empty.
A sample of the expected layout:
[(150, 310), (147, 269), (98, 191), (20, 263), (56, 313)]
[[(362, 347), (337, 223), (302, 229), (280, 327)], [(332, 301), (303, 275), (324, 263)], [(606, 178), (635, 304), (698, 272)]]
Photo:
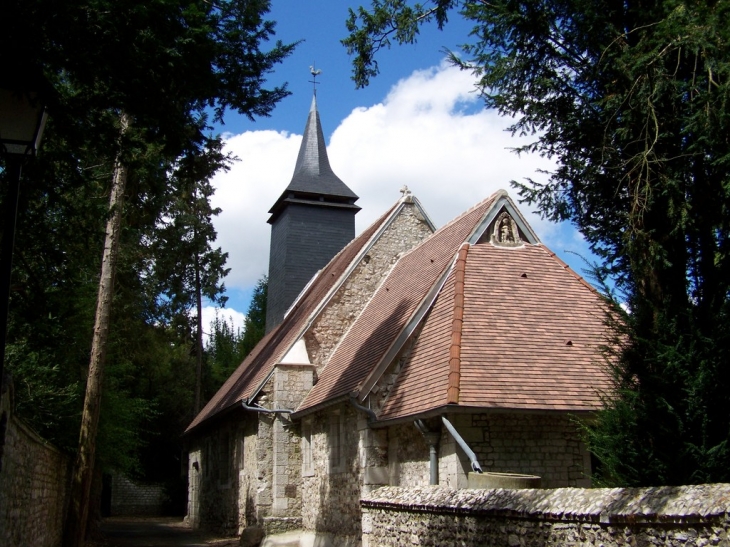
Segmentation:
[(470, 30), (462, 19), (455, 17), (439, 31), (435, 25), (424, 27), (418, 43), (394, 45), (379, 54), (381, 74), (364, 89), (355, 89), (351, 79), (350, 57), (340, 40), (348, 34), (345, 21), (348, 8), (357, 9), (361, 2), (346, 0), (273, 0), (270, 20), (276, 22), (276, 39), (284, 43), (301, 41), (294, 53), (276, 68), (268, 81), (279, 85), (287, 82), (291, 96), (282, 101), (269, 118), (250, 122), (229, 113), (223, 129), (230, 132), (246, 130), (289, 130), (301, 133), (312, 97), (312, 77), (309, 67), (322, 70), (317, 77), (320, 118), (325, 133), (332, 132), (353, 108), (375, 104), (383, 99), (399, 79), (416, 69), (438, 65), (442, 50), (456, 50), (466, 41)]

